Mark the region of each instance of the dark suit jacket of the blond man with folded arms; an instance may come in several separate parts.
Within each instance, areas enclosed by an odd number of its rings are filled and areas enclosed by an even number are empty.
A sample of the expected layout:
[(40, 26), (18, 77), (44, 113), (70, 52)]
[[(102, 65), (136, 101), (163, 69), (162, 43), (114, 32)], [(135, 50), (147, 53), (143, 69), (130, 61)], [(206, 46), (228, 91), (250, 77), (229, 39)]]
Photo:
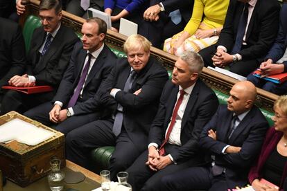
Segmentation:
[[(157, 112), (159, 97), (166, 80), (168, 80), (168, 74), (163, 66), (150, 57), (146, 66), (138, 73), (129, 92), (119, 91), (115, 98), (110, 96), (110, 91), (113, 88), (123, 89), (125, 87), (130, 70), (127, 58), (118, 59), (94, 101), (85, 106), (78, 107), (76, 105), (74, 110), (76, 112), (78, 112), (77, 110), (91, 109), (92, 111), (95, 109), (103, 111), (104, 108), (115, 112), (117, 104), (121, 104), (123, 106), (122, 128), (128, 132), (128, 136), (139, 151), (143, 151), (146, 149), (148, 131)], [(133, 93), (138, 89), (141, 89), (141, 93), (135, 96)]]

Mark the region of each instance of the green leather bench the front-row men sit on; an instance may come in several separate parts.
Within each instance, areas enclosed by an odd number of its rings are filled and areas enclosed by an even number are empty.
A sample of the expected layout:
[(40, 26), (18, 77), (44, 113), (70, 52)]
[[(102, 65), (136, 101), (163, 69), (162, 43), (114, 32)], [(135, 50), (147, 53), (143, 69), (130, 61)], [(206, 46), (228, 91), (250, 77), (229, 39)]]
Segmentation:
[[(26, 51), (30, 48), (30, 42), (32, 38), (32, 34), (35, 28), (41, 26), (41, 22), (39, 17), (36, 17), (35, 15), (30, 15), (25, 21), (24, 29), (23, 29), (23, 35), (25, 39), (26, 44)], [(80, 33), (76, 33), (78, 37), (81, 37)], [(114, 54), (118, 57), (125, 57), (125, 53), (116, 50), (114, 48), (110, 48)], [(171, 78), (171, 71), (168, 70), (168, 76)], [(220, 91), (214, 90), (216, 93), (216, 96), (218, 97), (218, 100), (220, 104), (226, 104), (228, 95), (225, 93), (222, 93)], [(264, 109), (261, 109), (264, 116), (266, 116), (266, 119), (269, 122), (269, 125), (272, 126), (273, 122), (271, 120), (272, 116), (274, 116), (274, 113), (270, 111), (266, 111)], [(112, 156), (112, 153), (114, 152), (114, 147), (107, 146), (107, 147), (99, 147), (97, 149), (93, 149), (90, 153), (90, 159), (91, 159), (91, 169), (94, 172), (100, 172), (103, 169), (107, 169), (110, 165), (110, 157)]]

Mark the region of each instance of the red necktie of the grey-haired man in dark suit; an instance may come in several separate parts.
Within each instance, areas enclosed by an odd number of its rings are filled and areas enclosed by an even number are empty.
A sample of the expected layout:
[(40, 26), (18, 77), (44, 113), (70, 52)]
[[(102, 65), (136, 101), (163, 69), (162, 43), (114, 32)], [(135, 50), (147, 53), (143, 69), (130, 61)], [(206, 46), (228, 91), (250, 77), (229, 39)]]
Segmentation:
[(177, 111), (178, 109), (180, 109), (180, 104), (182, 104), (182, 100), (184, 97), (184, 90), (180, 90), (180, 98), (178, 98), (176, 104), (175, 104), (175, 109), (173, 109), (173, 116), (171, 117), (171, 124), (168, 127), (168, 131), (166, 133), (166, 138), (164, 139), (164, 142), (162, 143), (162, 145), (159, 148), (159, 155), (160, 156), (164, 156), (165, 154), (165, 150), (164, 150), (164, 145), (166, 145), (169, 136), (171, 135), (171, 131), (173, 130), (173, 126), (175, 125), (175, 119), (177, 117)]

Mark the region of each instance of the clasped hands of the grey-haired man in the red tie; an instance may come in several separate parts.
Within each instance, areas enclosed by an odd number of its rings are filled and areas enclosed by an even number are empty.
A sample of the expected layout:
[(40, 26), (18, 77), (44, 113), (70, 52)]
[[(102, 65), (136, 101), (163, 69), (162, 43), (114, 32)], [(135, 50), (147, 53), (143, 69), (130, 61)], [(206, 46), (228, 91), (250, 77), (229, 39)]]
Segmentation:
[(169, 156), (159, 156), (158, 150), (154, 146), (150, 146), (148, 148), (148, 161), (146, 161), (146, 165), (150, 167), (150, 170), (157, 171), (162, 170), (167, 165), (173, 163)]

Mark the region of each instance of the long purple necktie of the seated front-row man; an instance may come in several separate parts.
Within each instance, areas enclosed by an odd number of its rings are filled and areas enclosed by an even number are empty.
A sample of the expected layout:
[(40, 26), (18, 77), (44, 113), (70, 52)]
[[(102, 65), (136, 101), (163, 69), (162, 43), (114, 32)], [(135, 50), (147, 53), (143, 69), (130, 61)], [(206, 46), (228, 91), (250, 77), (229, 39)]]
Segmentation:
[(88, 60), (84, 66), (84, 69), (82, 70), (82, 75), (80, 76), (80, 80), (78, 82), (78, 85), (76, 87), (76, 90), (73, 92), (73, 96), (71, 97), (69, 103), (68, 103), (68, 107), (73, 107), (79, 96), (80, 96), (80, 91), (82, 90), (82, 86), (84, 85), (85, 83), (85, 80), (86, 80), (86, 77), (87, 77), (87, 73), (89, 71), (89, 65), (91, 64), (91, 58), (92, 58), (92, 54), (91, 53), (88, 53)]

